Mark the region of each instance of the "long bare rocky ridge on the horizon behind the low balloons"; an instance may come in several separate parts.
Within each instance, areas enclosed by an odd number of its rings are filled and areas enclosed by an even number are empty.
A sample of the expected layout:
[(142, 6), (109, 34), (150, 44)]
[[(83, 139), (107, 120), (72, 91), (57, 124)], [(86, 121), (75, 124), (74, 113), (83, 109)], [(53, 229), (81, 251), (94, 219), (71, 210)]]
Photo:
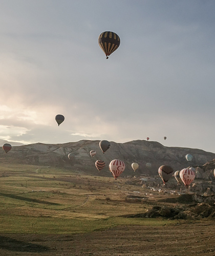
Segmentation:
[[(90, 151), (95, 150), (92, 158)], [(73, 153), (72, 160), (68, 154)], [(187, 162), (186, 154), (193, 156), (192, 162)], [(126, 168), (122, 176), (127, 175), (157, 175), (159, 166), (170, 165), (174, 170), (181, 170), (188, 166), (203, 166), (206, 162), (215, 159), (215, 154), (195, 148), (166, 147), (156, 141), (135, 140), (126, 143), (111, 142), (109, 150), (102, 153), (99, 141), (81, 140), (64, 144), (36, 143), (13, 147), (7, 154), (0, 152), (0, 161), (5, 163), (22, 163), (45, 166), (55, 166), (82, 170), (89, 174), (98, 174), (95, 168), (96, 160), (103, 160), (106, 166), (101, 170), (102, 175), (110, 175), (108, 165), (113, 159), (125, 162)], [(139, 163), (139, 169), (134, 173), (131, 164)], [(147, 167), (146, 163), (152, 166)]]

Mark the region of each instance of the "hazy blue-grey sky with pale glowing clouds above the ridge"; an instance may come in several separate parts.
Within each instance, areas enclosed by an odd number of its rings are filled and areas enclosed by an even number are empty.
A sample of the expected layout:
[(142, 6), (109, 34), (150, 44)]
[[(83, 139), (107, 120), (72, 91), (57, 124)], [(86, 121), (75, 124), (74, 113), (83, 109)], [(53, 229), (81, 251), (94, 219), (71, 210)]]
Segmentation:
[[(213, 0), (1, 0), (0, 139), (215, 153), (214, 13)], [(120, 37), (109, 59), (103, 31)]]

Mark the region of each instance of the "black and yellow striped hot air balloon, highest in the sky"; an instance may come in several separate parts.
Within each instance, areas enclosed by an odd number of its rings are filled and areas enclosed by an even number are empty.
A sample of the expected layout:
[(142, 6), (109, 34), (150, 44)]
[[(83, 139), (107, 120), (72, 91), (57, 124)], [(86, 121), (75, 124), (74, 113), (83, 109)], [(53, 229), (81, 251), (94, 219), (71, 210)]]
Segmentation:
[(106, 59), (111, 55), (120, 45), (119, 36), (111, 31), (105, 31), (99, 36), (99, 46), (106, 55)]

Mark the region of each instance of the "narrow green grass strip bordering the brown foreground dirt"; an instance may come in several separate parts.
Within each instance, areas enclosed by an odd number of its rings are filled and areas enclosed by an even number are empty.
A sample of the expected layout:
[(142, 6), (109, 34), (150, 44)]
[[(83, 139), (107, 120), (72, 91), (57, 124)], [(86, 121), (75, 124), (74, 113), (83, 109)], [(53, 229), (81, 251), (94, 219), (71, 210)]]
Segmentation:
[(106, 229), (118, 225), (146, 225), (161, 226), (175, 224), (177, 221), (162, 219), (134, 219), (134, 218), (107, 218), (107, 219), (63, 219), (29, 216), (0, 216), (1, 233), (85, 233)]

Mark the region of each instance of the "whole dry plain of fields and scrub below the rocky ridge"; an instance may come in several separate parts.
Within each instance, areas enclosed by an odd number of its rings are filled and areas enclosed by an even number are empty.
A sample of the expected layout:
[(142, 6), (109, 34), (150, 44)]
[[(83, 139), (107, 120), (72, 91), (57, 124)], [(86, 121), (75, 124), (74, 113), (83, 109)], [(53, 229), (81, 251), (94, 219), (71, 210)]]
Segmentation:
[(0, 185), (0, 255), (215, 254), (215, 207), (182, 185), (8, 163)]

